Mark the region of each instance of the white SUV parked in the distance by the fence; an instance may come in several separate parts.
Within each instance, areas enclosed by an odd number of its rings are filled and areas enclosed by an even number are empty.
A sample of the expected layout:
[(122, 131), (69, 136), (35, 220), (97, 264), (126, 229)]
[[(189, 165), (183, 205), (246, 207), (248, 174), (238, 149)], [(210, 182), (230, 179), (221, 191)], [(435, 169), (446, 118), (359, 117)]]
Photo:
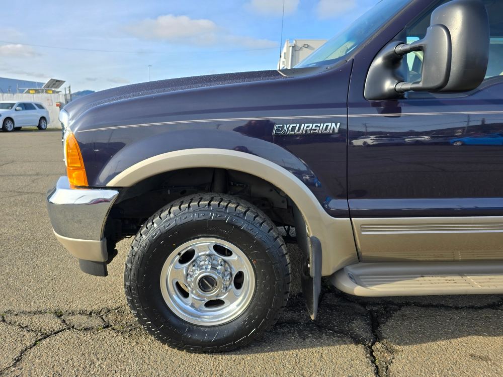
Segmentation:
[(50, 122), (49, 111), (38, 102), (0, 101), (0, 122), (6, 132), (26, 126), (45, 130)]

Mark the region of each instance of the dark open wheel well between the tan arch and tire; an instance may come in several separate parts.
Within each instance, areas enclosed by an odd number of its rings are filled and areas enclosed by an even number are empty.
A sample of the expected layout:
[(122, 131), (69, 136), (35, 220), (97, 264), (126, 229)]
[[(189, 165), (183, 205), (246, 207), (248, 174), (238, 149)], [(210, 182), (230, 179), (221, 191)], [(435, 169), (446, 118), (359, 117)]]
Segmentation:
[[(221, 168), (187, 168), (160, 173), (121, 191), (105, 226), (105, 237), (115, 245), (138, 232), (157, 210), (179, 198), (199, 193), (219, 193), (244, 199), (285, 228), (286, 241), (295, 241), (295, 204), (278, 187), (258, 176)], [(109, 250), (110, 250), (109, 245)]]

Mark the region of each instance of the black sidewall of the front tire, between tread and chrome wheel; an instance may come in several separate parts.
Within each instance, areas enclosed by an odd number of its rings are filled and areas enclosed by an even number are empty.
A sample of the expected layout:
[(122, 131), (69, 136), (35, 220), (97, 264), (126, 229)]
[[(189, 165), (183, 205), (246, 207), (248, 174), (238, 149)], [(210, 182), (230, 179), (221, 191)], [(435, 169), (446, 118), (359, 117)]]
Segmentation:
[[(142, 314), (151, 322), (150, 327), (158, 331), (158, 337), (169, 338), (170, 343), (178, 343), (180, 347), (187, 348), (189, 339), (190, 348), (198, 345), (207, 348), (208, 339), (212, 339), (213, 346), (222, 347), (232, 341), (230, 338), (237, 340), (249, 335), (267, 322), (263, 319), (282, 302), (276, 300), (275, 303), (276, 295), (285, 291), (277, 292), (284, 284), (281, 278), (284, 274), (271, 255), (275, 240), (254, 222), (229, 213), (214, 216), (215, 212), (208, 209), (164, 219), (142, 240), (137, 251), (141, 259), (133, 263), (131, 269), (131, 274), (136, 274), (137, 278), (137, 299), (142, 301)], [(241, 225), (236, 226), (238, 223)], [(198, 326), (179, 318), (167, 306), (160, 290), (160, 273), (167, 257), (181, 244), (201, 237), (219, 238), (236, 245), (250, 260), (255, 272), (251, 302), (241, 315), (223, 325)]]

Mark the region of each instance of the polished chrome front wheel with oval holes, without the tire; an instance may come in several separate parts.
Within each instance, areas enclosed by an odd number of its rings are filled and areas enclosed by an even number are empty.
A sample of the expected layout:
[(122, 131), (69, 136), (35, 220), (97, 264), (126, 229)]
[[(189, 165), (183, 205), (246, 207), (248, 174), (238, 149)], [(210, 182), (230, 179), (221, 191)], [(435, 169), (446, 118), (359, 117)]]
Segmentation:
[(222, 325), (249, 305), (255, 272), (237, 246), (217, 238), (198, 238), (179, 246), (166, 259), (160, 288), (178, 317), (195, 325)]

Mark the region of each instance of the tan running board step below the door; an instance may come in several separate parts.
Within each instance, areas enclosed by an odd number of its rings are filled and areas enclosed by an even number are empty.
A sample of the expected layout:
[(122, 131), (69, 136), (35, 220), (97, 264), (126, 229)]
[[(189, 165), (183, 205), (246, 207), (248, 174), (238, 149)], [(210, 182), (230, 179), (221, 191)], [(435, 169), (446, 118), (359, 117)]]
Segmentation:
[(356, 296), (423, 296), (503, 293), (503, 261), (356, 263), (330, 276)]

